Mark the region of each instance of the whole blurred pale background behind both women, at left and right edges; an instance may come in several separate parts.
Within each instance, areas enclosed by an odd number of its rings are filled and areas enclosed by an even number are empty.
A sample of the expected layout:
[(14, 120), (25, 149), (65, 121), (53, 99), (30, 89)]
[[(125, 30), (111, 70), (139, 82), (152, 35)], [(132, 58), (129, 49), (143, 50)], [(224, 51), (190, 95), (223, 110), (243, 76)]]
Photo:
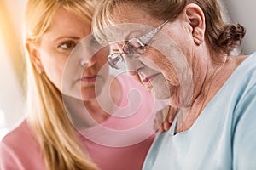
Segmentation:
[[(225, 20), (247, 28), (242, 54), (256, 51), (256, 2), (219, 0)], [(26, 115), (22, 20), (26, 0), (0, 0), (0, 140)]]

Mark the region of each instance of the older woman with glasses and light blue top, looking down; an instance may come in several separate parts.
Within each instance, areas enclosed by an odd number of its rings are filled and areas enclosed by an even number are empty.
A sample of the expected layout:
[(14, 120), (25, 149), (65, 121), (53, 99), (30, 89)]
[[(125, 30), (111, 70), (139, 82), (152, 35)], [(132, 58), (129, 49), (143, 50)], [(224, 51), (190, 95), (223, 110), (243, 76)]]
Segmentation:
[(95, 16), (108, 64), (177, 111), (144, 169), (256, 167), (256, 54), (231, 55), (245, 29), (224, 23), (216, 0), (109, 0)]

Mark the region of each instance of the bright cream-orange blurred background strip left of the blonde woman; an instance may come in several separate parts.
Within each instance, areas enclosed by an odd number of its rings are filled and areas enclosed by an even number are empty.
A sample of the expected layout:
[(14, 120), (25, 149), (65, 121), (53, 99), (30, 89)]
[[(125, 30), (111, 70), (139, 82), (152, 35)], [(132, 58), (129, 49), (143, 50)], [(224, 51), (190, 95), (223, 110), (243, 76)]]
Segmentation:
[(25, 116), (22, 14), (26, 0), (0, 0), (0, 140)]

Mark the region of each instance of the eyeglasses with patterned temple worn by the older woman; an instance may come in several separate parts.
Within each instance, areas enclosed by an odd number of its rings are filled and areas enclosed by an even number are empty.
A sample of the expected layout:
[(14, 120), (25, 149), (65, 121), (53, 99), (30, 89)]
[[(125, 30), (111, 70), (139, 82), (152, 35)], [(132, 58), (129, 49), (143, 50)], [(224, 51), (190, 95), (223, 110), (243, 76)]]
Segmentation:
[(118, 53), (108, 55), (108, 65), (114, 69), (120, 70), (125, 67), (124, 54), (131, 59), (138, 58), (140, 55), (144, 54), (146, 52), (148, 42), (150, 42), (156, 33), (159, 32), (160, 29), (162, 29), (162, 27), (164, 27), (168, 22), (169, 20), (166, 20), (163, 24), (144, 34), (142, 37), (131, 38), (123, 45), (122, 49), (119, 49)]

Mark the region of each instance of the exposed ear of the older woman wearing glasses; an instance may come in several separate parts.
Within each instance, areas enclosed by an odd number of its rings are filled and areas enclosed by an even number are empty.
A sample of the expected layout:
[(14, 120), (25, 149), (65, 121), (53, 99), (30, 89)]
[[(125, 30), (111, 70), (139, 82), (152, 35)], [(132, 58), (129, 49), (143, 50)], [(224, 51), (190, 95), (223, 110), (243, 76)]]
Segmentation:
[(203, 11), (198, 5), (190, 3), (184, 8), (183, 14), (185, 14), (187, 20), (189, 21), (195, 44), (201, 45), (201, 43), (204, 41), (206, 29)]

